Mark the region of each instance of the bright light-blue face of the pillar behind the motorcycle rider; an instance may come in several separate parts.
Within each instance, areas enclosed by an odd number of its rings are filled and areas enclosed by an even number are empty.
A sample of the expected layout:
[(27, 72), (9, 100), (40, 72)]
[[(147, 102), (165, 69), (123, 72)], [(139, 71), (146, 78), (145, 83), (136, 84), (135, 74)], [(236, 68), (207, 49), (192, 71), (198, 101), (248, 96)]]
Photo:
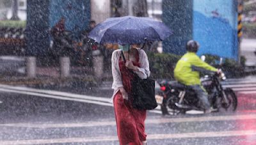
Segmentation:
[(233, 0), (194, 1), (193, 39), (200, 43), (198, 55), (238, 59), (236, 10)]

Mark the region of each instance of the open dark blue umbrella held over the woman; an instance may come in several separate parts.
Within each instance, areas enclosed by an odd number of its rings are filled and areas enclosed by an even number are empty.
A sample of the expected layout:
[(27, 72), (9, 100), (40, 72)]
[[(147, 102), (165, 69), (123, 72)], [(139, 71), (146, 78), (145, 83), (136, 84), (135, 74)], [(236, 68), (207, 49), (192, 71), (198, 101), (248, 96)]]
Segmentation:
[(163, 41), (172, 31), (162, 22), (147, 17), (108, 18), (89, 34), (97, 43), (119, 45), (141, 44), (145, 41)]

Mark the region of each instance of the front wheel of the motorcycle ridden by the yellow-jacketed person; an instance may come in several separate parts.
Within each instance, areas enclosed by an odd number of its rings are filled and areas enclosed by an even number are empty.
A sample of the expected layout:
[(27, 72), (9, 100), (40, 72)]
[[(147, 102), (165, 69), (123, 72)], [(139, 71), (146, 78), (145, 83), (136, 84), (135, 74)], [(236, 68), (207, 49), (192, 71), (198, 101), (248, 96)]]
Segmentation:
[(232, 112), (236, 111), (237, 108), (237, 97), (233, 90), (227, 88), (224, 90), (227, 96), (228, 102), (226, 103), (223, 97), (218, 97), (216, 100), (216, 106), (219, 111)]

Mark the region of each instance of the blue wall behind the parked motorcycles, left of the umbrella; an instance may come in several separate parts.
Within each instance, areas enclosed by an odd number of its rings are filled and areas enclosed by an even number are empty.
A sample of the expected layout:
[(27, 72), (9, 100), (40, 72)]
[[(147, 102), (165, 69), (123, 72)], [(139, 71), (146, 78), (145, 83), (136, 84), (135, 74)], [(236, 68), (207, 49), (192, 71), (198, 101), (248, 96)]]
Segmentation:
[(49, 30), (61, 17), (65, 17), (65, 29), (75, 36), (88, 28), (90, 0), (28, 0), (26, 55), (49, 55), (51, 36)]

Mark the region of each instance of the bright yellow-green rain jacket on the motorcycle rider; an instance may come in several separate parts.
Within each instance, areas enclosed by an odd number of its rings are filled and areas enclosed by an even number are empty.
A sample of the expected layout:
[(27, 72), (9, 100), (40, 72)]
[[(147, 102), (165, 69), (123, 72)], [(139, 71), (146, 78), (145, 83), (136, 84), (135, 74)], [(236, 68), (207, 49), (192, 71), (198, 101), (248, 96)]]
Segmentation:
[(192, 66), (201, 67), (208, 71), (218, 71), (216, 68), (202, 61), (196, 53), (188, 52), (181, 57), (174, 69), (174, 77), (184, 85), (200, 85), (198, 71), (192, 71)]

